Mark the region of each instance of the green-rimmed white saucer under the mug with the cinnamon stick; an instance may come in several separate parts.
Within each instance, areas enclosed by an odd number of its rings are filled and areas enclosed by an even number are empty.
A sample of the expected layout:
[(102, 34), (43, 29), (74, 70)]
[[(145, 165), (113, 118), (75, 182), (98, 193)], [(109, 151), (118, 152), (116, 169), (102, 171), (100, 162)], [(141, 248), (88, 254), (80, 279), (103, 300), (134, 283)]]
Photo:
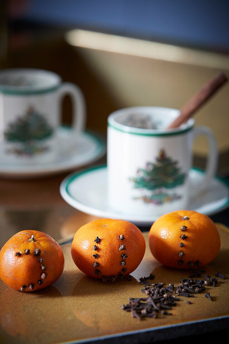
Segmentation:
[[(192, 169), (190, 178), (195, 184), (203, 182), (205, 173)], [(139, 226), (151, 226), (155, 216), (140, 217), (114, 212), (107, 202), (107, 168), (100, 166), (68, 175), (61, 183), (60, 193), (72, 207), (84, 213), (99, 217), (121, 218)], [(189, 210), (212, 215), (229, 204), (229, 187), (225, 181), (214, 178), (211, 187), (205, 193), (191, 194)]]

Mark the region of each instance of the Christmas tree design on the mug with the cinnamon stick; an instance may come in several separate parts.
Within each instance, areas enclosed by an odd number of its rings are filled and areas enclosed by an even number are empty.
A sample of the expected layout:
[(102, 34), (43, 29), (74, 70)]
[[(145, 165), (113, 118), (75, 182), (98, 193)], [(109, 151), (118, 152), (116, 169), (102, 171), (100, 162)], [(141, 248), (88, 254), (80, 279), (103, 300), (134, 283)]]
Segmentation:
[(168, 189), (182, 185), (185, 181), (186, 174), (182, 173), (177, 165), (178, 162), (173, 161), (166, 155), (165, 150), (161, 149), (155, 163), (146, 163), (144, 169), (137, 171), (137, 177), (130, 178), (130, 181), (134, 183), (135, 189), (152, 191), (152, 194), (149, 196), (144, 195), (135, 197), (135, 199), (156, 205), (180, 199), (182, 195), (168, 192)]

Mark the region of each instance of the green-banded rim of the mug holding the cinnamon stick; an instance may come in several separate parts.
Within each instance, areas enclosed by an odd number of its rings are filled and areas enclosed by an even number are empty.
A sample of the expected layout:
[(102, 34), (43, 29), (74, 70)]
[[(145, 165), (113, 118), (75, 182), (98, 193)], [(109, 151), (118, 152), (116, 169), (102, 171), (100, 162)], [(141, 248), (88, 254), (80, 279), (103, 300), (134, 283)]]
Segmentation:
[[(187, 123), (184, 123), (179, 128), (174, 129), (143, 129), (143, 128), (136, 128), (136, 127), (130, 127), (128, 125), (125, 125), (123, 123), (120, 123), (116, 120), (116, 117), (119, 115), (125, 115), (127, 111), (133, 111), (133, 114), (136, 113), (136, 111), (140, 112), (141, 109), (143, 109), (143, 113), (145, 113), (145, 110), (149, 111), (164, 111), (163, 113), (166, 114), (166, 112), (171, 112), (173, 115), (173, 118), (175, 119), (174, 115), (177, 116), (179, 114), (179, 110), (177, 109), (171, 109), (171, 108), (165, 108), (165, 107), (157, 107), (157, 106), (136, 106), (136, 107), (129, 107), (129, 108), (123, 108), (120, 110), (116, 110), (112, 112), (107, 119), (108, 127), (111, 127), (113, 129), (116, 129), (121, 132), (125, 132), (128, 134), (133, 135), (140, 135), (140, 136), (174, 136), (174, 135), (182, 135), (190, 130), (193, 129), (195, 120), (193, 118), (189, 118)], [(137, 112), (137, 113), (138, 113)]]

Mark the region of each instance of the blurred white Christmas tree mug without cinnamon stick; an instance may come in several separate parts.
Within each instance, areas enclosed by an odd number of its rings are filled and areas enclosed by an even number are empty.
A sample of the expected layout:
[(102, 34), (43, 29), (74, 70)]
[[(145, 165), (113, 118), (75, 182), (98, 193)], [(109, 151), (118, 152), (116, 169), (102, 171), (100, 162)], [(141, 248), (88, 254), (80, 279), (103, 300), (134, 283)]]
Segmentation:
[(0, 163), (52, 162), (58, 154), (56, 132), (62, 99), (73, 103), (73, 134), (84, 130), (85, 99), (81, 89), (42, 69), (0, 71)]

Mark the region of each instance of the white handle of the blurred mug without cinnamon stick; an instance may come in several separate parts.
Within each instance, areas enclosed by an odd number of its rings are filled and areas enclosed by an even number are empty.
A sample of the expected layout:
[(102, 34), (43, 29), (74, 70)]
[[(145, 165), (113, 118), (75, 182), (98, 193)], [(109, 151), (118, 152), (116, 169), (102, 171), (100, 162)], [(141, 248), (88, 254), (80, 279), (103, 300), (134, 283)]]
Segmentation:
[[(63, 83), (59, 88), (59, 100), (68, 94), (73, 104), (73, 130), (83, 131), (86, 126), (86, 102), (82, 90), (73, 83)], [(61, 106), (59, 107), (61, 109)]]

